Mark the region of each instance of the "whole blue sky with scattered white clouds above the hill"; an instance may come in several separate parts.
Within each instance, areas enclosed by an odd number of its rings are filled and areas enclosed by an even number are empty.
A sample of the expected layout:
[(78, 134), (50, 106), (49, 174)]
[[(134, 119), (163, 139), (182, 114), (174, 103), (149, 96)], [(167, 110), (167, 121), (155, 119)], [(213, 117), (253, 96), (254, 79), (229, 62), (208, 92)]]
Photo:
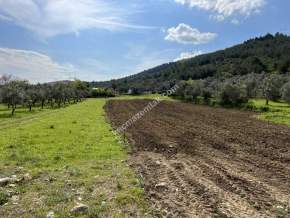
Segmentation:
[(0, 0), (0, 75), (108, 80), (266, 33), (288, 0)]

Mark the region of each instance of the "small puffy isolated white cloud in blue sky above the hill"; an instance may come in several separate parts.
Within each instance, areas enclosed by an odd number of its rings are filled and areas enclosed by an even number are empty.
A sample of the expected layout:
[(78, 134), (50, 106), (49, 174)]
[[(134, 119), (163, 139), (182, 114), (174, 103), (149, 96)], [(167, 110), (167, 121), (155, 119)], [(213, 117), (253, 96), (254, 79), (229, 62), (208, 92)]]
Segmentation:
[(165, 40), (182, 44), (203, 44), (215, 39), (216, 33), (201, 33), (198, 29), (192, 28), (187, 24), (181, 23), (177, 27), (167, 30)]

